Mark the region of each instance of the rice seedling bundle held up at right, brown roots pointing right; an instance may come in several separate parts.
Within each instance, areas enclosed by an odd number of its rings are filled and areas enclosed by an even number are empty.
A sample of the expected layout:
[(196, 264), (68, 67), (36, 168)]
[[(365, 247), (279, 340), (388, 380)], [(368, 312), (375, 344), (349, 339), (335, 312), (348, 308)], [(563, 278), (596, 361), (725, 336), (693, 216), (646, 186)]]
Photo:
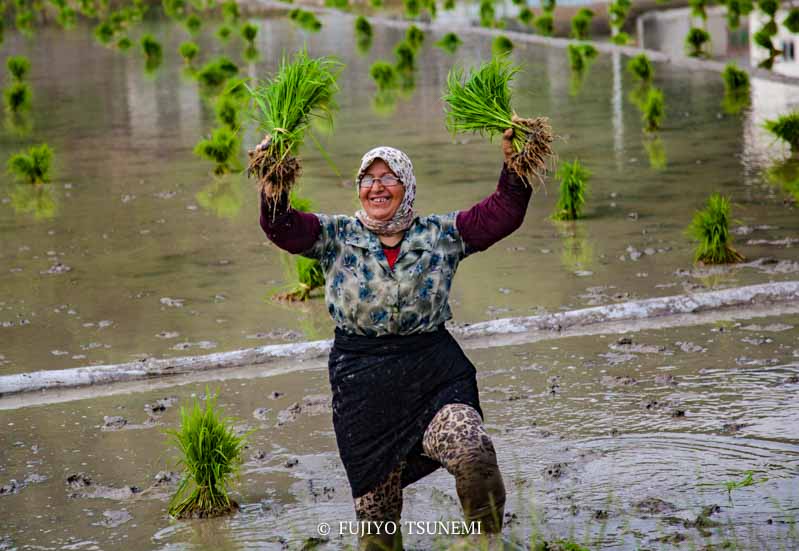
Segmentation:
[(552, 129), (545, 117), (522, 119), (511, 108), (510, 82), (519, 71), (505, 57), (495, 57), (468, 74), (453, 68), (447, 75), (443, 100), (447, 128), (452, 134), (478, 132), (501, 136), (514, 129), (513, 154), (509, 167), (521, 176), (543, 183), (552, 157)]

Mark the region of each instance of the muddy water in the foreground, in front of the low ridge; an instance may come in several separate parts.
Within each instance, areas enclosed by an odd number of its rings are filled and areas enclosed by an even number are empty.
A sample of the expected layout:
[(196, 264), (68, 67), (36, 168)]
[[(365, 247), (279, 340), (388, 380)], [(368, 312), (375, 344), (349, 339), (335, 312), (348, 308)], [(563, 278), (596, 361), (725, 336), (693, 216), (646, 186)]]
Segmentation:
[[(470, 352), (509, 493), (506, 543), (795, 548), (797, 326), (793, 315)], [(211, 388), (253, 429), (240, 512), (166, 516), (174, 482), (162, 472), (175, 466), (163, 430), (204, 385), (28, 407), (2, 416), (5, 548), (297, 549), (318, 523), (352, 519), (324, 370)], [(728, 493), (747, 471), (753, 484)], [(405, 521), (459, 514), (443, 471), (406, 489)], [(353, 542), (336, 528), (322, 548)]]

